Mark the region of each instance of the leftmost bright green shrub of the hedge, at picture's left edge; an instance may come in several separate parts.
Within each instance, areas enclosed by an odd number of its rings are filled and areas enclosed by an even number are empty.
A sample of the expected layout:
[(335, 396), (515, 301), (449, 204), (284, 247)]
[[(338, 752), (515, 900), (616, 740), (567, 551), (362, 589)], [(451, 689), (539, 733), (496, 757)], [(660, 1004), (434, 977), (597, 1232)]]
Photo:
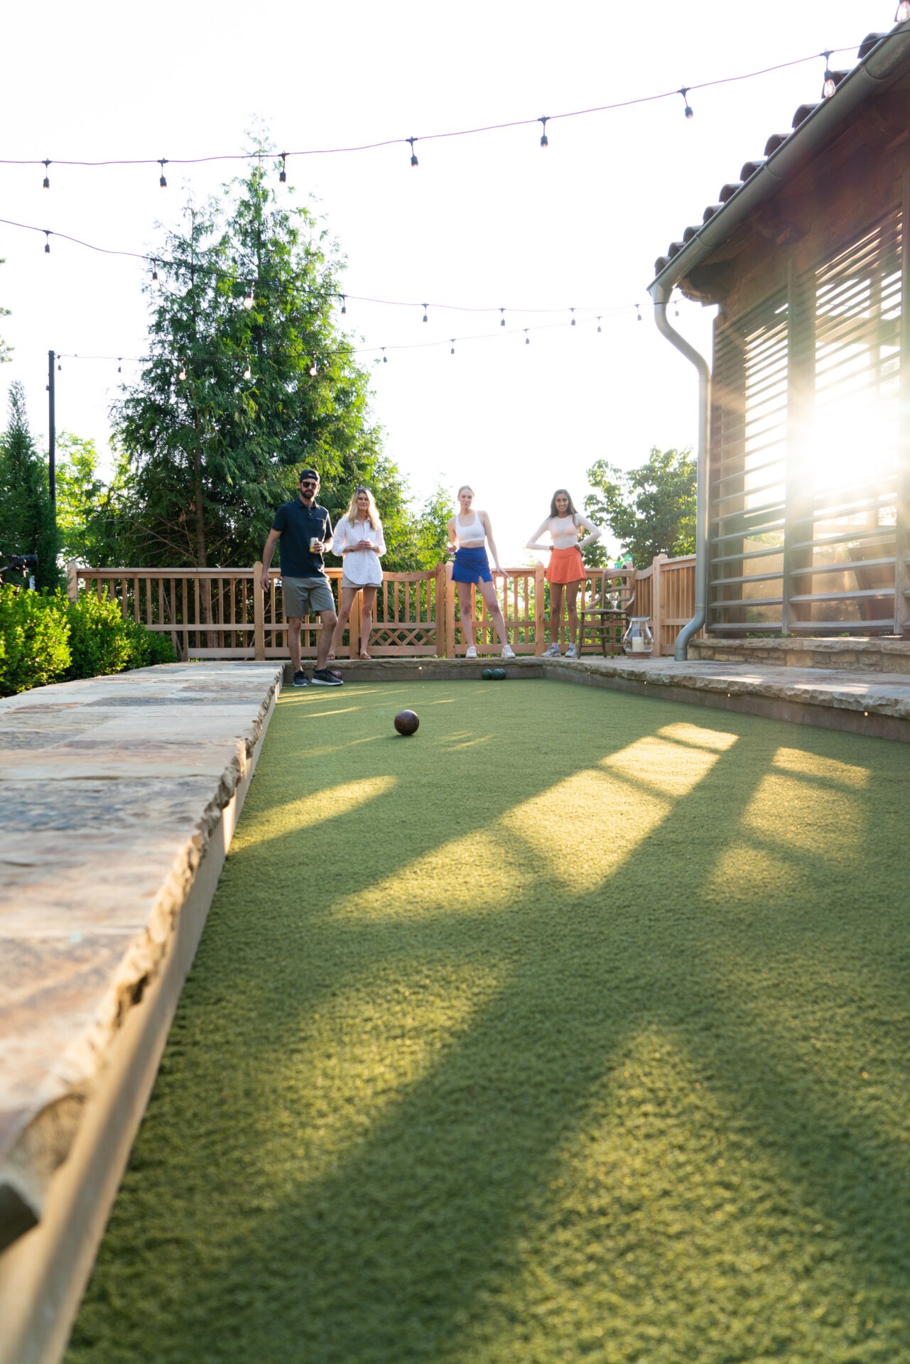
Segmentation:
[(70, 666), (70, 621), (57, 593), (0, 584), (0, 696), (61, 679)]

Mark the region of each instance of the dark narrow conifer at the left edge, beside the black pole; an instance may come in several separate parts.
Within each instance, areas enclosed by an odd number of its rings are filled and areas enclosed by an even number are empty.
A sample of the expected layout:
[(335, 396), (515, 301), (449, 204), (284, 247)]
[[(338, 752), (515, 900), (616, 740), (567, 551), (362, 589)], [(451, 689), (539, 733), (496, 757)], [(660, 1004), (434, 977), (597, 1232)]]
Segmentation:
[(50, 506), (48, 465), (38, 453), (20, 383), (10, 386), (10, 426), (0, 435), (0, 551), (37, 554), (35, 585), (60, 584), (59, 536)]

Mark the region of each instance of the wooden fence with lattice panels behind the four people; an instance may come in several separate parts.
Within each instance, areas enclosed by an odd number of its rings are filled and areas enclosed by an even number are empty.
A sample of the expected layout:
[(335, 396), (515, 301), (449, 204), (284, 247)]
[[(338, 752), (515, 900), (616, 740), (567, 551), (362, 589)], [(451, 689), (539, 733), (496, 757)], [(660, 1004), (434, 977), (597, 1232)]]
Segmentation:
[[(336, 600), (341, 569), (326, 569)], [(655, 655), (673, 653), (679, 629), (694, 612), (694, 557), (659, 555), (649, 569), (591, 569), (581, 584), (578, 606), (596, 599), (607, 584), (634, 580), (632, 614), (649, 615)], [(281, 574), (261, 585), (262, 565), (248, 569), (87, 569), (71, 563), (70, 596), (80, 585), (116, 602), (124, 617), (169, 634), (180, 659), (288, 657), (288, 622)], [(548, 589), (543, 566), (509, 569), (494, 578), (497, 600), (516, 653), (539, 655), (548, 644)], [(493, 622), (480, 593), (472, 592), (478, 651), (498, 652)], [(318, 618), (303, 622), (300, 652), (312, 657), (322, 629)], [(360, 595), (355, 597), (340, 656), (357, 656)], [(568, 640), (563, 611), (561, 637)], [(452, 565), (424, 573), (383, 573), (377, 593), (370, 653), (374, 657), (458, 657), (465, 652)], [(588, 645), (588, 648), (593, 648)], [(599, 648), (599, 647), (598, 647)]]

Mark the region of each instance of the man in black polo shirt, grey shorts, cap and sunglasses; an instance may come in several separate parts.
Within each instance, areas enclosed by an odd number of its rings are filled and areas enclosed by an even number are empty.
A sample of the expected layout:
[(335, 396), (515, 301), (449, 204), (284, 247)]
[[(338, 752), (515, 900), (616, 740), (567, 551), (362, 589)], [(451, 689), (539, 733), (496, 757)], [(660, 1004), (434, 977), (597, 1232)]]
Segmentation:
[(288, 617), (293, 685), (310, 685), (307, 674), (300, 667), (300, 625), (304, 615), (312, 615), (315, 611), (322, 629), (317, 636), (317, 668), (312, 681), (317, 686), (341, 686), (341, 678), (326, 668), (332, 632), (338, 622), (322, 563), (323, 550), (332, 544), (332, 521), (326, 509), (317, 505), (319, 475), (315, 469), (300, 471), (297, 488), (300, 495), (293, 502), (282, 502), (271, 522), (262, 551), (262, 591), (269, 591), (269, 565), (274, 547), (281, 540), (281, 585)]

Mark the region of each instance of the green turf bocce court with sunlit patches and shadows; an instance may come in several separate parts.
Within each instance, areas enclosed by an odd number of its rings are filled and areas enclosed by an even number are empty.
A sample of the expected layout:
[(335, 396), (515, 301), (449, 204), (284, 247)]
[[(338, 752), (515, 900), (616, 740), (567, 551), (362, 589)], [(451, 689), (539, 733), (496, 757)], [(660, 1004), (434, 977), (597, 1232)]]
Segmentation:
[(910, 1356), (906, 771), (555, 681), (287, 689), (70, 1364)]

